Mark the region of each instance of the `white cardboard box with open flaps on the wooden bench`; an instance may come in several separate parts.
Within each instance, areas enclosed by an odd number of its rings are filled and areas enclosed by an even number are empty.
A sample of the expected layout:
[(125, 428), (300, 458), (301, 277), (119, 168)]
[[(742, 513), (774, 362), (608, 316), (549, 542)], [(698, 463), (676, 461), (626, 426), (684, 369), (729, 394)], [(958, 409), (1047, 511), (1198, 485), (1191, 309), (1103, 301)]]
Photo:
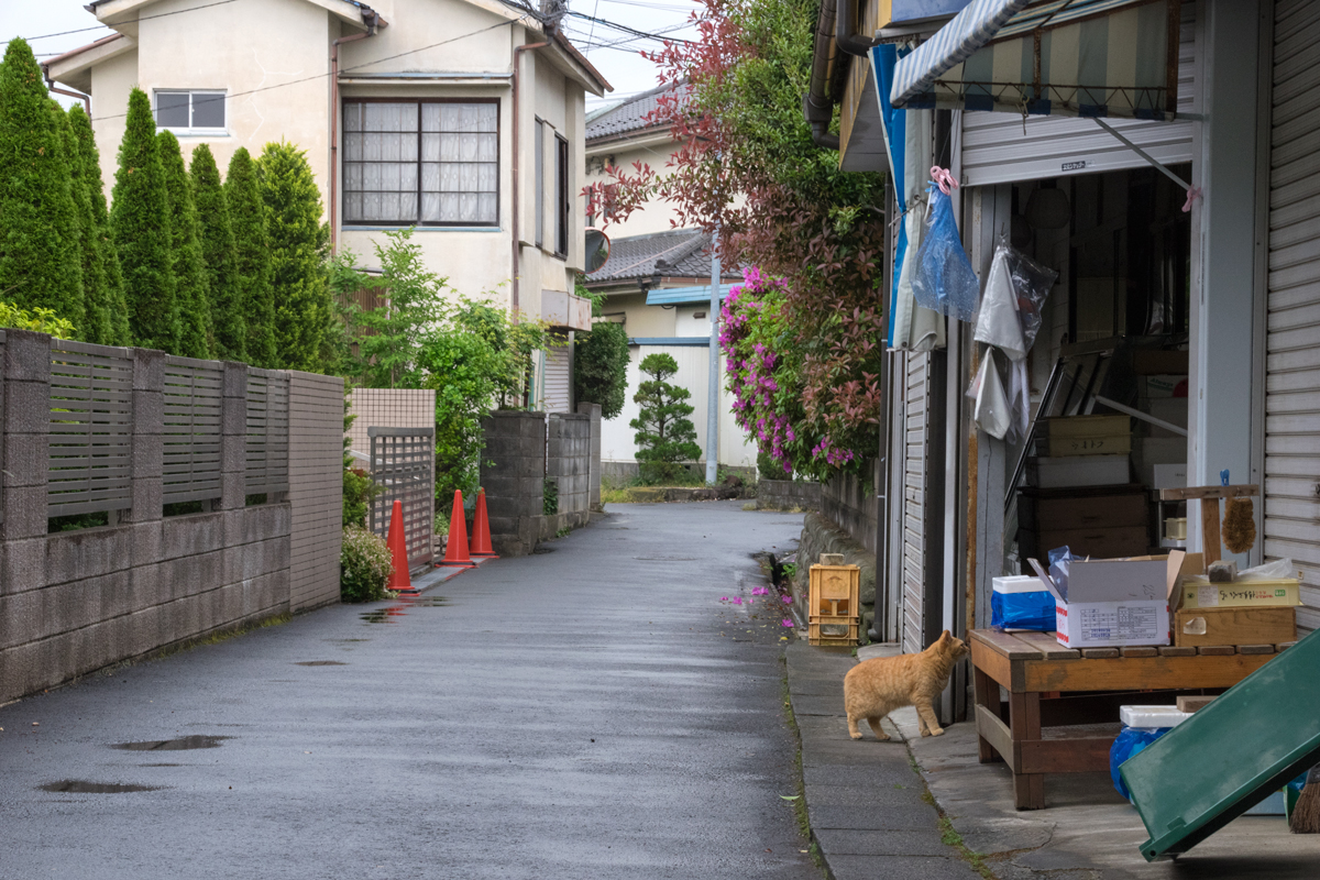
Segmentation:
[(1055, 595), (1055, 633), (1068, 648), (1167, 645), (1170, 598), (1185, 553), (1127, 559), (1078, 559), (1067, 588), (1039, 561), (1031, 566)]

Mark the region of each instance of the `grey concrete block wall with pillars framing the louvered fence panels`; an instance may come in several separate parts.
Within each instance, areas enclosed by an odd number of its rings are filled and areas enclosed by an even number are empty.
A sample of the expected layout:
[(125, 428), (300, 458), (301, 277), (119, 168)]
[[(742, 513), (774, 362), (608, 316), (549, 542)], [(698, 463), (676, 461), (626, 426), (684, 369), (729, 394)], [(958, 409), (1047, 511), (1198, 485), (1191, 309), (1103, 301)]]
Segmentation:
[[(315, 520), (322, 526), (333, 508), (338, 534), (338, 470), (330, 508), (327, 484), (322, 482), (313, 491), (293, 472), (289, 495), (297, 501), (276, 496), (268, 504), (246, 505), (247, 367), (234, 363), (223, 369), (220, 495), (206, 504), (206, 512), (164, 517), (164, 355), (128, 352), (133, 359), (132, 505), (111, 513), (110, 525), (48, 534), (50, 339), (13, 330), (5, 334), (0, 381), (8, 404), (0, 422), (0, 702), (285, 613), (294, 607), (290, 536), (296, 504), (314, 503), (321, 512), (304, 513), (302, 521)], [(321, 392), (319, 400), (305, 389), (290, 393), (296, 414), (290, 422), (298, 424), (290, 427), (290, 445), (297, 443), (294, 455), (309, 459), (309, 467), (312, 459), (329, 464), (333, 450), (338, 468), (342, 392), (335, 400), (329, 388), (335, 383), (319, 376), (290, 383), (294, 389), (310, 385)], [(13, 406), (17, 400), (21, 410)], [(317, 410), (317, 418), (297, 416), (310, 409)], [(331, 409), (337, 420), (330, 418)], [(312, 437), (326, 427), (325, 437)], [(308, 583), (308, 570), (297, 569), (304, 596), (300, 607), (325, 600), (331, 590), (338, 595), (338, 550), (331, 558), (333, 566), (314, 571), (310, 579), (315, 583)]]

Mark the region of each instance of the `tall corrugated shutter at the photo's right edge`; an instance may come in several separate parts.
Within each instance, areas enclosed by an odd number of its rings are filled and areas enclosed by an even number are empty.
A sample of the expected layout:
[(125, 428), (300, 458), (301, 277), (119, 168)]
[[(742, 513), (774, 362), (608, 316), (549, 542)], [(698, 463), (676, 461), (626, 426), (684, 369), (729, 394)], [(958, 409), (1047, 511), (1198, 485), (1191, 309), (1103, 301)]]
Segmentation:
[(1265, 554), (1303, 571), (1320, 627), (1320, 7), (1279, 0), (1270, 139)]

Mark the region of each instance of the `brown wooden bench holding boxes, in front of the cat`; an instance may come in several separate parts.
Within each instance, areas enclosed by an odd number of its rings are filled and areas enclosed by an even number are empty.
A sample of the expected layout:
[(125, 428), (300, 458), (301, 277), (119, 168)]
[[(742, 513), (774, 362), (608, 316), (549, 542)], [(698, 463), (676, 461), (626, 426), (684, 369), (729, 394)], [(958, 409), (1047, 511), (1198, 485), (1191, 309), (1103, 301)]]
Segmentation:
[(1045, 773), (1109, 770), (1119, 703), (1172, 705), (1176, 691), (1232, 687), (1291, 644), (1076, 650), (1052, 632), (974, 629), (978, 757), (1008, 765), (1019, 810), (1043, 809)]

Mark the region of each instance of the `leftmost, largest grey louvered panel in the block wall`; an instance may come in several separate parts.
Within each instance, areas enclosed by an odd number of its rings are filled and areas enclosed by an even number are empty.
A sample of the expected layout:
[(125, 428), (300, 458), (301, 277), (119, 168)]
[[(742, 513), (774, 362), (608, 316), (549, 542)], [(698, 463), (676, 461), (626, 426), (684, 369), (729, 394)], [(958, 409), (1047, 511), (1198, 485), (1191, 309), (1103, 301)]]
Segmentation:
[(127, 509), (132, 435), (127, 350), (51, 339), (48, 516)]

